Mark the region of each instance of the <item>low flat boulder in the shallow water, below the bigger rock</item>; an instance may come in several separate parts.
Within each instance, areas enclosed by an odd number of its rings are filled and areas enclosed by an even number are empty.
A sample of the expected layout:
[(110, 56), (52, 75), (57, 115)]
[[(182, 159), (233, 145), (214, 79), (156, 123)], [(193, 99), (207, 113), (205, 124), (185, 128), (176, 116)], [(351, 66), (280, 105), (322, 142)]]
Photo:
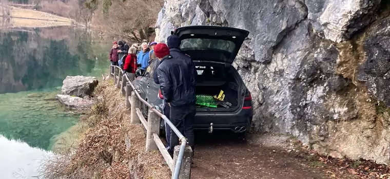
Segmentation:
[(93, 102), (88, 99), (74, 97), (70, 95), (56, 95), (56, 99), (60, 101), (60, 103), (71, 109), (88, 109), (93, 105)]

